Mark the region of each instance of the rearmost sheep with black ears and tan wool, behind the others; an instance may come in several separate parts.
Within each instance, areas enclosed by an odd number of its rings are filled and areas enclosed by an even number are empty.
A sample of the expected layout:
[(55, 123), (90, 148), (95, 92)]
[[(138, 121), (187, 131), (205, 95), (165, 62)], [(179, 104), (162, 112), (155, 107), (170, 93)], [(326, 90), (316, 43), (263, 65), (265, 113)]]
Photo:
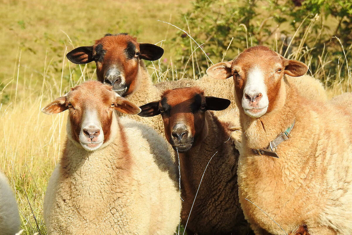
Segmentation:
[[(138, 106), (158, 100), (165, 89), (190, 86), (199, 86), (207, 94), (217, 97), (234, 99), (232, 80), (214, 83), (207, 75), (198, 80), (181, 79), (153, 85), (142, 59), (157, 60), (163, 52), (164, 50), (156, 45), (138, 43), (136, 38), (127, 33), (115, 35), (108, 33), (96, 40), (93, 46), (73, 49), (67, 54), (67, 58), (76, 64), (95, 61), (98, 81), (113, 86), (115, 92)], [(315, 96), (314, 98), (326, 99), (324, 88), (315, 79), (309, 77), (293, 81), (300, 83), (302, 94), (313, 94), (311, 96)], [(215, 115), (221, 120), (230, 122), (233, 130), (239, 130), (239, 111), (235, 103), (231, 103), (228, 109)], [(131, 118), (151, 126), (164, 136), (163, 120), (160, 116), (142, 118), (136, 115)]]

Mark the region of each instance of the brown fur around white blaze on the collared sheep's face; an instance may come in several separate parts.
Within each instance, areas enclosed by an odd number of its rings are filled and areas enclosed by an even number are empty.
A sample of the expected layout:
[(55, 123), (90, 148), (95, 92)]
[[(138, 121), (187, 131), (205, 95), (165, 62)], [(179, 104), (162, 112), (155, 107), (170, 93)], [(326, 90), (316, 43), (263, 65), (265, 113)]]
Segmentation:
[[(236, 95), (243, 98), (243, 89), (250, 69), (258, 67), (263, 72), (269, 106), (266, 112), (272, 111), (284, 75), (282, 59), (276, 52), (267, 47), (251, 47), (242, 52), (232, 63), (232, 74)], [(279, 71), (278, 69), (281, 69)]]

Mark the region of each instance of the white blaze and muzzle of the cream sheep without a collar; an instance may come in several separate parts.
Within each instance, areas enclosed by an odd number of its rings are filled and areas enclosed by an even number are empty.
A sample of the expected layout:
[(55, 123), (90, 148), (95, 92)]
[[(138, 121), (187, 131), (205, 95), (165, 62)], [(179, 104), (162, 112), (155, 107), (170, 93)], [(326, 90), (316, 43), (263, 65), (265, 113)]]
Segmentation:
[[(98, 137), (93, 138), (92, 141), (92, 139), (84, 135), (84, 129), (99, 130), (100, 134)], [(96, 110), (84, 110), (82, 115), (82, 125), (79, 139), (82, 147), (87, 151), (94, 151), (103, 144), (104, 133), (103, 129), (101, 128), (101, 123)]]

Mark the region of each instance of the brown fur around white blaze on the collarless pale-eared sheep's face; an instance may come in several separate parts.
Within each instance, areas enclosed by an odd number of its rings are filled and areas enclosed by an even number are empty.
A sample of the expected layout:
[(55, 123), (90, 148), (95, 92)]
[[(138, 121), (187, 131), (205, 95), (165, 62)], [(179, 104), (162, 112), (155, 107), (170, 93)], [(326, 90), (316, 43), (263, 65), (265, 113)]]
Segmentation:
[(101, 84), (98, 81), (87, 81), (72, 88), (67, 94), (66, 103), (67, 105), (72, 105), (72, 107), (69, 107), (69, 119), (73, 139), (80, 142), (79, 135), (84, 111), (95, 110), (104, 133), (104, 142), (109, 140), (114, 110), (111, 104), (115, 103), (115, 100), (115, 93), (112, 91), (112, 87)]

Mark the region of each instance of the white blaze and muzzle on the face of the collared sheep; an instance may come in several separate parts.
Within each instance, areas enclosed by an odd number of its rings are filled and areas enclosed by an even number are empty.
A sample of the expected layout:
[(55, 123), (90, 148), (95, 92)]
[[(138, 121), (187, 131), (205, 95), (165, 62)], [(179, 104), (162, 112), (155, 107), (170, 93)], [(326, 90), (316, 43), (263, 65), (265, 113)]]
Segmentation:
[[(261, 117), (268, 109), (269, 100), (264, 79), (264, 73), (260, 67), (255, 66), (248, 71), (246, 84), (243, 89), (242, 107), (246, 115), (253, 118)], [(246, 95), (256, 97), (260, 94), (262, 97), (257, 103), (251, 102), (246, 98)]]

